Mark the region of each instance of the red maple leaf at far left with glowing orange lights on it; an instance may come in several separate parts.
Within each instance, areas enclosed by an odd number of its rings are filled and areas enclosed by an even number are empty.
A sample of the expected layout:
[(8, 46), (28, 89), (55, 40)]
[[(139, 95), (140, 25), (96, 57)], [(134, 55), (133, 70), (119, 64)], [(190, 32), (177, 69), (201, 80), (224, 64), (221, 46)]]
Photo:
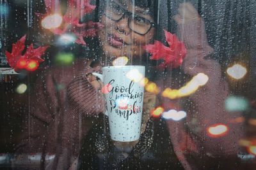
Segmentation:
[[(48, 46), (39, 46), (34, 48), (33, 44), (29, 45), (26, 52), (25, 49), (25, 40), (26, 35), (22, 36), (17, 43), (12, 44), (12, 53), (6, 51), (6, 59), (8, 64), (15, 70), (27, 69), (28, 71), (34, 71), (40, 62), (43, 62), (44, 59), (41, 56), (44, 54)], [(22, 55), (22, 52), (24, 54)]]

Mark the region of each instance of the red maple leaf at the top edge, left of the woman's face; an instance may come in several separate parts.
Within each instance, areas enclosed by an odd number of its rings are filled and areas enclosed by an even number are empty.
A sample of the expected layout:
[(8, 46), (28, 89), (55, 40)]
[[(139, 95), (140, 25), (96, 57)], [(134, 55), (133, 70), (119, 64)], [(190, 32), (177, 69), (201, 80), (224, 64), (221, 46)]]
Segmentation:
[(63, 22), (60, 27), (50, 29), (50, 31), (58, 35), (68, 32), (74, 34), (77, 38), (77, 44), (86, 45), (83, 37), (96, 36), (97, 30), (103, 27), (103, 24), (100, 24), (99, 22), (90, 21), (80, 23), (81, 17), (87, 13), (91, 13), (95, 9), (95, 6), (90, 4), (90, 0), (68, 0), (67, 12), (65, 15), (61, 15), (59, 1), (45, 0), (44, 2), (46, 6), (46, 13), (36, 13), (36, 15), (38, 15), (38, 17), (45, 18), (58, 13), (63, 18)]

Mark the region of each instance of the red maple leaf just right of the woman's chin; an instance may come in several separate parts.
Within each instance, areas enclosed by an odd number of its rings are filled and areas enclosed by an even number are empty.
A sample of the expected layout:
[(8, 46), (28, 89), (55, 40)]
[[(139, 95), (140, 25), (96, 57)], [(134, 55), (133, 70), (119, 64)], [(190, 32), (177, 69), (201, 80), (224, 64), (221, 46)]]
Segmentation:
[(160, 41), (155, 41), (154, 44), (146, 45), (145, 49), (152, 54), (150, 59), (163, 60), (163, 63), (159, 65), (160, 68), (179, 67), (186, 56), (186, 47), (174, 34), (165, 30), (164, 34), (169, 46), (165, 46)]

